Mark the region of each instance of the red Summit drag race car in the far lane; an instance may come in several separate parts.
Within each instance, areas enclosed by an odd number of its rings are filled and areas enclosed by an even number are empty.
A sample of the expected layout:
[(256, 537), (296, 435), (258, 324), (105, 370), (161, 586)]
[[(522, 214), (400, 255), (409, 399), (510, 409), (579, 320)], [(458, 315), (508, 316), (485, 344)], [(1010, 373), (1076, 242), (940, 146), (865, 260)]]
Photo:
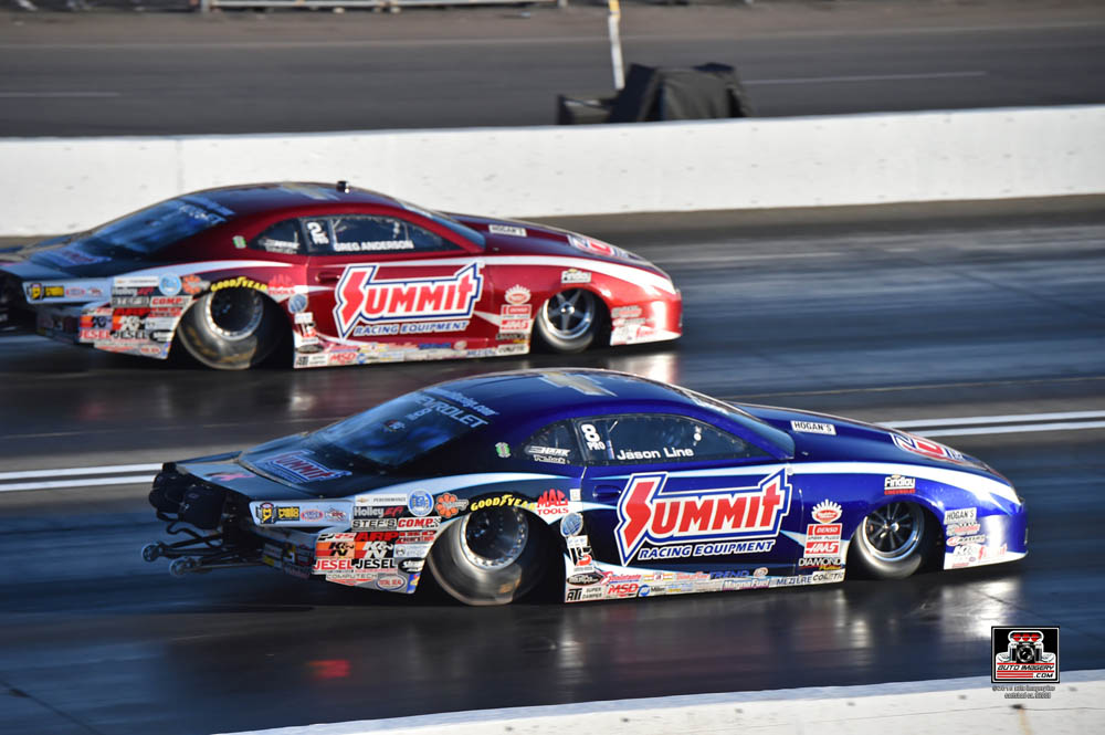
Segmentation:
[(291, 335), (295, 367), (577, 353), (675, 339), (678, 290), (614, 245), (443, 214), (346, 182), (256, 183), (169, 199), (0, 266), (0, 319), (46, 336), (220, 369)]

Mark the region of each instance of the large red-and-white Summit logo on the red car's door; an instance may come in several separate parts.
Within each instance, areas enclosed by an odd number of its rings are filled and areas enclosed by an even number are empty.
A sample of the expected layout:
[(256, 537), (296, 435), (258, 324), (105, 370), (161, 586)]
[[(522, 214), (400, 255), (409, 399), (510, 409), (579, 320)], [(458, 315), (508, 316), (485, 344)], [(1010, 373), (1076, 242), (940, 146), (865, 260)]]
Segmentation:
[(334, 322), (343, 337), (361, 323), (470, 318), (483, 293), (478, 263), (428, 279), (377, 279), (378, 267), (350, 265), (341, 274)]

